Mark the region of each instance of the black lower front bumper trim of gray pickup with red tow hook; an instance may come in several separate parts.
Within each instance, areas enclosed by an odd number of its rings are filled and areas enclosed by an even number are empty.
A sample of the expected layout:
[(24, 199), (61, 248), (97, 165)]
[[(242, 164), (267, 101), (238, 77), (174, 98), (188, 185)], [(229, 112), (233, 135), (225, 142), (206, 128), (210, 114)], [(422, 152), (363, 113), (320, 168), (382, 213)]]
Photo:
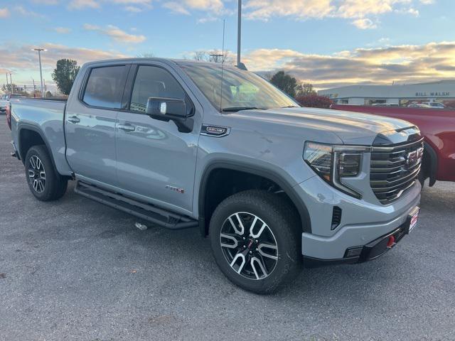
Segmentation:
[[(410, 218), (401, 224), (400, 227), (397, 227), (393, 231), (373, 240), (372, 242), (369, 242), (368, 244), (346, 249), (342, 259), (317, 259), (304, 256), (304, 266), (314, 267), (329, 264), (356, 264), (363, 263), (364, 261), (372, 261), (395, 247), (395, 245), (409, 233), (409, 227)], [(395, 238), (395, 244), (388, 246), (387, 244), (389, 243), (391, 236)]]

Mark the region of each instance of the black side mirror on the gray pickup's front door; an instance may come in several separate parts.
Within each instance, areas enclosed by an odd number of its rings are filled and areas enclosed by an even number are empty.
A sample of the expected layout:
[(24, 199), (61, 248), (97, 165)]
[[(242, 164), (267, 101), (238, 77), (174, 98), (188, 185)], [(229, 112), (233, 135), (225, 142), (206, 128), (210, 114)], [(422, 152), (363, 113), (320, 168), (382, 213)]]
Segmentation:
[(174, 121), (178, 131), (189, 133), (193, 131), (193, 119), (188, 117), (186, 102), (178, 98), (149, 97), (146, 114), (159, 121)]

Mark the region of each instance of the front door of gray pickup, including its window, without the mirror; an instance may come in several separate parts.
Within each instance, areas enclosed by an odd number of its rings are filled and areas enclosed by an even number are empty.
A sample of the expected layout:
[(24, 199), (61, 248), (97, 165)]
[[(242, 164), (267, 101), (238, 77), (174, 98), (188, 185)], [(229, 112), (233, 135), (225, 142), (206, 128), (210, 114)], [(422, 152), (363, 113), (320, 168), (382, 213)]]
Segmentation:
[[(119, 188), (156, 205), (182, 213), (192, 210), (196, 153), (202, 108), (165, 65), (139, 65), (129, 110), (117, 116)], [(184, 99), (192, 108), (194, 129), (178, 131), (173, 121), (145, 113), (149, 97)]]

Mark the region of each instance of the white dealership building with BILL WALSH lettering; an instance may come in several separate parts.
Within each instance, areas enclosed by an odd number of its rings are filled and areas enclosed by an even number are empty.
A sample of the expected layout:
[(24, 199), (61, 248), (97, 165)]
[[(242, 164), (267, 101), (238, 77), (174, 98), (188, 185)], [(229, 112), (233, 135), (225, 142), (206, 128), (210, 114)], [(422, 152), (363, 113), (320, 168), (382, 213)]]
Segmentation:
[(455, 100), (455, 80), (409, 85), (349, 85), (319, 90), (336, 104), (398, 104), (446, 102)]

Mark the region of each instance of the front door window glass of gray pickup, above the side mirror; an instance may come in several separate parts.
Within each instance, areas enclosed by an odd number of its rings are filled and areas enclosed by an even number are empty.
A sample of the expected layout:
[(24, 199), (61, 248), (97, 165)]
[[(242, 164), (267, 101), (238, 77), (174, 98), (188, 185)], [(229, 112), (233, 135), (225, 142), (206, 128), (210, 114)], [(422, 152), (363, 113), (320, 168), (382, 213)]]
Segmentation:
[(185, 99), (185, 92), (172, 75), (161, 67), (139, 66), (130, 109), (145, 112), (149, 97)]

